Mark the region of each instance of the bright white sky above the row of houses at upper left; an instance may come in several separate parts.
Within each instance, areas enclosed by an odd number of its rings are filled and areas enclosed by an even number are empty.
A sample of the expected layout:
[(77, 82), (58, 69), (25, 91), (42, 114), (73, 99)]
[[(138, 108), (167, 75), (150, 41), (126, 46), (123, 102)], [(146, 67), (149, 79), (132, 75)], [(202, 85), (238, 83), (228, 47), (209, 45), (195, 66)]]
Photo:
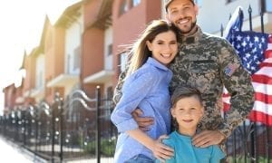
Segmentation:
[(24, 51), (38, 45), (47, 14), (53, 24), (63, 10), (79, 0), (1, 0), (0, 1), (0, 110), (3, 88), (17, 81)]

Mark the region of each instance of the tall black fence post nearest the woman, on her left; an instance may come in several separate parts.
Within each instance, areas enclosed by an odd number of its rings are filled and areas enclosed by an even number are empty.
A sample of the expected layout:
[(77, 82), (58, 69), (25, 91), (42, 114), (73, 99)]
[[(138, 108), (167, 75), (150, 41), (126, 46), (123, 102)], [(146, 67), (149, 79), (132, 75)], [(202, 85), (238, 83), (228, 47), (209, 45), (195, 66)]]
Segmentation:
[(96, 162), (100, 163), (100, 158), (101, 158), (101, 138), (100, 138), (100, 125), (99, 125), (99, 116), (100, 116), (100, 101), (101, 101), (101, 92), (100, 92), (100, 86), (96, 87), (96, 133), (95, 133), (95, 137), (96, 137)]

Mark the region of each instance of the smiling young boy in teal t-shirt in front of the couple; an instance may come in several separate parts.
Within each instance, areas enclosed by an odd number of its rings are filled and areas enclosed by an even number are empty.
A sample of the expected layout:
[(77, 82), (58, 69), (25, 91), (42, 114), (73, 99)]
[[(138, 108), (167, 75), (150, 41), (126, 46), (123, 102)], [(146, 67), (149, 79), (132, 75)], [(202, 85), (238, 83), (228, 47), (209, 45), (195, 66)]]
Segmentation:
[(218, 163), (220, 159), (225, 158), (225, 154), (217, 145), (207, 148), (192, 145), (192, 137), (197, 133), (199, 121), (204, 113), (201, 94), (197, 89), (178, 87), (171, 97), (170, 112), (175, 131), (170, 133), (169, 139), (163, 139), (163, 143), (174, 149), (174, 156), (166, 159), (166, 163)]

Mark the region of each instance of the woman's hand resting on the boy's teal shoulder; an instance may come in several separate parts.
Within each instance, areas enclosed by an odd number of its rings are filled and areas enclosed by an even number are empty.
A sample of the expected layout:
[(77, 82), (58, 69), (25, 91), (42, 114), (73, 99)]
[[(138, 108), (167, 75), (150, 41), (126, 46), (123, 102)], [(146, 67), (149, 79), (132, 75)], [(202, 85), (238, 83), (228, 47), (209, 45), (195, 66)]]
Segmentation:
[(154, 141), (153, 148), (151, 149), (155, 158), (160, 159), (164, 162), (165, 159), (170, 159), (174, 155), (174, 150), (164, 145), (161, 140), (168, 139), (167, 135), (161, 135), (159, 139)]

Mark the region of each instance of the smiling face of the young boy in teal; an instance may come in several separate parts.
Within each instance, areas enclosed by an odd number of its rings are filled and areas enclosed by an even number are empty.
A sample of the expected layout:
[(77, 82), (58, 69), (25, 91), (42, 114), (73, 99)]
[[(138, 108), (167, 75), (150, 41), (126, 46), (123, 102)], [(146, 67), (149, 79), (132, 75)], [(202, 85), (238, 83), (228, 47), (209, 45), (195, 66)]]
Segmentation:
[(179, 130), (196, 129), (203, 116), (203, 106), (198, 97), (191, 96), (180, 99), (171, 109), (171, 114), (179, 124)]

